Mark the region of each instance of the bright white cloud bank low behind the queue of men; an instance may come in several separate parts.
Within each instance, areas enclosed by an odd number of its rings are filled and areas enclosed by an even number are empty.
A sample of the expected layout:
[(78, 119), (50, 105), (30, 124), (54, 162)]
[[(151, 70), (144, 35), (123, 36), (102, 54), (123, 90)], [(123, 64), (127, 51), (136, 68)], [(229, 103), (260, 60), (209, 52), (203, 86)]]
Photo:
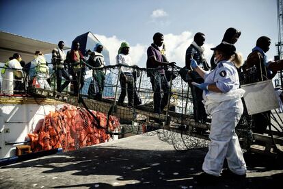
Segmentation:
[[(98, 34), (95, 36), (108, 49), (111, 64), (116, 64), (115, 58), (118, 53), (118, 49), (121, 42), (125, 40), (119, 39), (116, 36), (107, 37)], [(193, 34), (191, 31), (183, 31), (179, 35), (164, 34), (164, 43), (168, 60), (170, 62), (176, 62), (180, 67), (185, 66), (185, 52), (189, 45), (191, 45), (191, 42), (193, 42)], [(137, 64), (137, 66), (145, 68), (147, 59), (146, 50), (148, 45), (130, 44), (130, 46), (130, 55), (133, 60), (133, 64)], [(211, 47), (214, 47), (214, 45), (204, 44), (204, 55), (208, 63), (210, 62), (210, 58), (213, 53), (213, 51), (211, 51)]]

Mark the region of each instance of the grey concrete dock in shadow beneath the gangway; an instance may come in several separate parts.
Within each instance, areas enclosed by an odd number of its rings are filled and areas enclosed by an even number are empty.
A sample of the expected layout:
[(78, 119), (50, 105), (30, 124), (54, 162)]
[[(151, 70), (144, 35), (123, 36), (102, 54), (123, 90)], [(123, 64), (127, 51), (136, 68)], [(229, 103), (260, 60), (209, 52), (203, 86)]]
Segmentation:
[(245, 154), (246, 179), (200, 186), (194, 177), (206, 151), (176, 151), (157, 135), (131, 136), (2, 166), (0, 188), (282, 188), (283, 158), (255, 153)]

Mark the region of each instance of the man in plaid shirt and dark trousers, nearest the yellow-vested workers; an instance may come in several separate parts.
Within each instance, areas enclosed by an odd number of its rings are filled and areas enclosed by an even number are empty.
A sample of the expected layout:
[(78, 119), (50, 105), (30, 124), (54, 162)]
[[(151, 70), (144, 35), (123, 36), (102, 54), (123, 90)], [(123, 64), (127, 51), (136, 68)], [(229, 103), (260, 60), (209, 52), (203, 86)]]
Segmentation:
[[(57, 91), (62, 92), (66, 86), (70, 83), (70, 75), (68, 75), (68, 72), (66, 71), (66, 54), (64, 52), (64, 41), (58, 42), (58, 47), (53, 49), (52, 51), (52, 59), (51, 62), (53, 64), (53, 70), (55, 70), (56, 74), (56, 81), (57, 81)], [(64, 77), (66, 80), (63, 85), (62, 84), (62, 77)]]

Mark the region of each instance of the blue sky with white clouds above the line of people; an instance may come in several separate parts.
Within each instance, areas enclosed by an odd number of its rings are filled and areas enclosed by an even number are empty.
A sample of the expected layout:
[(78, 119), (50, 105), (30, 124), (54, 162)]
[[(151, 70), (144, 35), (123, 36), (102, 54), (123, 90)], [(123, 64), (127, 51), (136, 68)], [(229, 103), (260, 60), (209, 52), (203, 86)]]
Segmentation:
[(152, 36), (165, 35), (167, 56), (185, 66), (185, 51), (193, 35), (206, 34), (206, 58), (228, 27), (242, 31), (237, 51), (247, 58), (260, 36), (271, 38), (269, 59), (277, 54), (276, 0), (0, 0), (0, 30), (53, 42), (72, 40), (92, 31), (109, 49), (115, 64), (120, 42), (130, 43), (135, 64), (145, 66)]

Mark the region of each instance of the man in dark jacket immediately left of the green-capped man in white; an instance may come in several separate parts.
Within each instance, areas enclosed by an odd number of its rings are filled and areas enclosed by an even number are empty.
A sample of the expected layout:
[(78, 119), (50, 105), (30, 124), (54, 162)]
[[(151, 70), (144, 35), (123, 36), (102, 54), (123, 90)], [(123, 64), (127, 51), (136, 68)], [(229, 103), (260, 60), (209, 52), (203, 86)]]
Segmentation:
[(91, 84), (88, 90), (88, 95), (90, 99), (97, 99), (100, 101), (103, 97), (103, 89), (105, 85), (105, 73), (103, 72), (102, 69), (105, 66), (105, 61), (102, 51), (103, 51), (103, 45), (100, 42), (96, 43), (96, 46), (94, 47), (94, 52), (90, 54), (90, 58), (88, 59), (88, 64), (90, 64), (90, 66), (92, 66), (93, 68), (100, 68), (100, 69), (93, 69), (92, 72), (92, 77), (94, 77), (98, 85), (98, 92), (94, 97), (94, 92), (95, 92), (94, 84)]

